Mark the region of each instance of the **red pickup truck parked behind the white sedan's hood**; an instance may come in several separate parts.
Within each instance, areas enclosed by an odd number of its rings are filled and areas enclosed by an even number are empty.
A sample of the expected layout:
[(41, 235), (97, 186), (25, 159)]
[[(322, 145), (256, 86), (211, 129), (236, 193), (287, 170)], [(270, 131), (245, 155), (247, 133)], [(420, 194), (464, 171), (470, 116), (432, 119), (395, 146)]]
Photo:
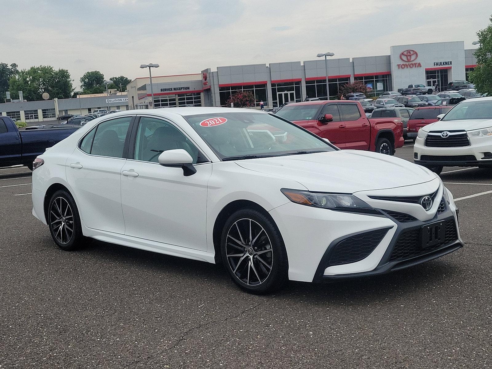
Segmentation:
[(285, 105), (276, 115), (327, 138), (340, 149), (393, 155), (404, 142), (401, 118), (368, 119), (358, 101), (296, 102)]

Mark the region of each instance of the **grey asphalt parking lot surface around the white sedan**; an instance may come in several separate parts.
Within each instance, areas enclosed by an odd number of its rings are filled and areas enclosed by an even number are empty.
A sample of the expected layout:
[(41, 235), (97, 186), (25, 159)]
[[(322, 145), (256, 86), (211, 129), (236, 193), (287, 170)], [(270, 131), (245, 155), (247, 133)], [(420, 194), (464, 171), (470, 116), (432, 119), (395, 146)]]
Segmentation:
[(62, 251), (31, 215), (29, 170), (0, 169), (0, 368), (489, 368), (492, 170), (441, 178), (457, 252), (253, 296), (212, 264), (98, 241)]

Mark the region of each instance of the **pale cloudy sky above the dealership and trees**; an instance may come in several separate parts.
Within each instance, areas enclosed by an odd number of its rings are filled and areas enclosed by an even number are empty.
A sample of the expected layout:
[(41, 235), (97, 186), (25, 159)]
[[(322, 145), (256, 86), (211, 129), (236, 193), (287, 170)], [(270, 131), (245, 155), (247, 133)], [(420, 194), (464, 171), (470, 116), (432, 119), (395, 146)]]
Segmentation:
[(390, 46), (464, 40), (492, 0), (0, 0), (0, 62), (106, 78), (216, 66), (388, 55)]

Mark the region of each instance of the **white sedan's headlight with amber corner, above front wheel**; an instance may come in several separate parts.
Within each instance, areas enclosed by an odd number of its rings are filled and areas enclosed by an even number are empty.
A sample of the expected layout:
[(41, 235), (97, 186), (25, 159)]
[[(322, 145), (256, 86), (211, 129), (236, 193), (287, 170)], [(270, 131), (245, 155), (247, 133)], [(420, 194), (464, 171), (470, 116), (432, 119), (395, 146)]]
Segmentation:
[(369, 204), (350, 194), (309, 192), (289, 188), (282, 188), (280, 191), (296, 204), (345, 212), (379, 214)]

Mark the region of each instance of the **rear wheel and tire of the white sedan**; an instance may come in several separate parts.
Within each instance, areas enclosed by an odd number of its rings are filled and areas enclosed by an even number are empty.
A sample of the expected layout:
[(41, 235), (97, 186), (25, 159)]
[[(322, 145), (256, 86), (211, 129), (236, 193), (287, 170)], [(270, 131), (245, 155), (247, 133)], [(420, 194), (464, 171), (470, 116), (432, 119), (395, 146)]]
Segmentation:
[(51, 237), (62, 250), (75, 250), (81, 246), (84, 235), (79, 211), (72, 195), (66, 190), (56, 191), (47, 209)]

